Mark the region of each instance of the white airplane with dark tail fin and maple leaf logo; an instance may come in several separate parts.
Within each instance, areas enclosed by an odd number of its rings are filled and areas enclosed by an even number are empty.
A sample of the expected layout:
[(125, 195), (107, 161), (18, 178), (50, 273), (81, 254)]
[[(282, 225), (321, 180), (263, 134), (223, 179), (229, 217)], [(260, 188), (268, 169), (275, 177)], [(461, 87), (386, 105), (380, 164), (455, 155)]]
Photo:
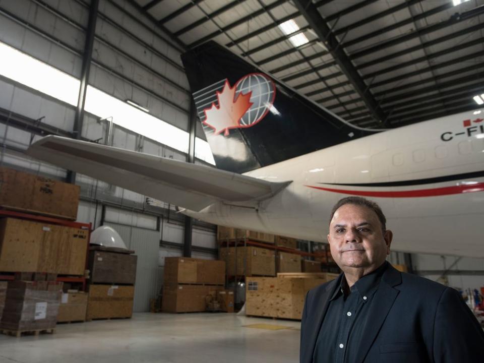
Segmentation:
[(28, 154), (206, 222), (323, 243), (332, 206), (364, 196), (392, 250), (484, 257), (482, 115), (365, 129), (213, 41), (181, 58), (217, 168), (58, 136)]

